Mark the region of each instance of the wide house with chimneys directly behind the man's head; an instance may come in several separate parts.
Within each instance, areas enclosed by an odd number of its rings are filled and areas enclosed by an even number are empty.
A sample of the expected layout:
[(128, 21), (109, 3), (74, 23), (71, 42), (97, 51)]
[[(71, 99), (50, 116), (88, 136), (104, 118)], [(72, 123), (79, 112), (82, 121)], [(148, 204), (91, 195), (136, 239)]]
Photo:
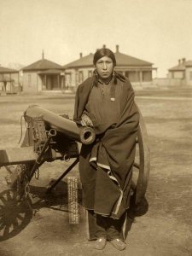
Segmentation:
[[(114, 55), (117, 61), (115, 70), (128, 77), (133, 85), (152, 84), (152, 72), (156, 70), (153, 63), (120, 53), (119, 45), (116, 45)], [(78, 85), (90, 77), (94, 71), (93, 54), (83, 56), (80, 53), (78, 60), (68, 63), (63, 68), (65, 69), (65, 88), (76, 90)]]

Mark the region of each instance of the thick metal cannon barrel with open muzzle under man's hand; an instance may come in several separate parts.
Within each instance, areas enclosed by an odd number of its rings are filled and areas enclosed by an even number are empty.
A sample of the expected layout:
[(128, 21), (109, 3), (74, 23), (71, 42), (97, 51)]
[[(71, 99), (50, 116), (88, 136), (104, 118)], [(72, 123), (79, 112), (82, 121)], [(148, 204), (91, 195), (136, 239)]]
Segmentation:
[(45, 125), (48, 125), (49, 128), (60, 131), (65, 136), (70, 137), (79, 143), (90, 144), (93, 143), (96, 138), (95, 131), (91, 127), (77, 125), (73, 120), (61, 117), (38, 105), (29, 106), (26, 109), (24, 116), (26, 121), (41, 117), (44, 120)]

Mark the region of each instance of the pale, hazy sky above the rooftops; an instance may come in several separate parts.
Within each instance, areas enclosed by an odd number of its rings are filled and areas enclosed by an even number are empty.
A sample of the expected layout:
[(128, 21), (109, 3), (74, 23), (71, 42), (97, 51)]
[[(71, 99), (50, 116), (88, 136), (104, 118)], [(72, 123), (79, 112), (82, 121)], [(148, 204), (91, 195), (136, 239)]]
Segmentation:
[(0, 0), (0, 65), (60, 65), (105, 44), (154, 63), (166, 77), (192, 60), (192, 0)]

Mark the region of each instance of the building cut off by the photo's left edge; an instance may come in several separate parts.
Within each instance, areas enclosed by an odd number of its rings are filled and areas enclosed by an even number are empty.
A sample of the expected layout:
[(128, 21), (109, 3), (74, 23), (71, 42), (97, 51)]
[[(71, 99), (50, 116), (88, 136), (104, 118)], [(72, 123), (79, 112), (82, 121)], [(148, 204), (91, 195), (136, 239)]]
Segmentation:
[(19, 90), (19, 71), (0, 66), (0, 94), (15, 93)]

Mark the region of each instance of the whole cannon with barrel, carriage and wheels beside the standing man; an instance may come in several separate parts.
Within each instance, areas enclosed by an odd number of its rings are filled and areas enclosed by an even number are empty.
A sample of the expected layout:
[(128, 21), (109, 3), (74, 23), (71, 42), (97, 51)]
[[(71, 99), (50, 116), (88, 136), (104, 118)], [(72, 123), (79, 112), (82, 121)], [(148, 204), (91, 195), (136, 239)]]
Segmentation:
[[(22, 204), (22, 201), (26, 199), (29, 194), (30, 181), (33, 176), (37, 175), (38, 168), (42, 166), (44, 162), (52, 162), (55, 160), (68, 161), (74, 159), (73, 163), (67, 166), (67, 169), (61, 176), (53, 183), (50, 183), (48, 188), (46, 188), (47, 193), (49, 193), (67, 176), (68, 172), (79, 163), (80, 143), (93, 143), (96, 138), (95, 131), (92, 128), (82, 127), (69, 119), (67, 115), (61, 116), (55, 114), (38, 105), (29, 106), (24, 113), (24, 119), (26, 121), (26, 133), (20, 144), (20, 148), (0, 149), (0, 167), (5, 167), (9, 172), (8, 177), (6, 177), (9, 189), (0, 195), (0, 200), (2, 198), (4, 203), (4, 205), (1, 206), (0, 201), (1, 209), (4, 208), (3, 218), (9, 218), (6, 213), (6, 207), (9, 208), (9, 205), (11, 207), (13, 205), (20, 207), (15, 201), (20, 201)], [(131, 198), (133, 203), (137, 206), (146, 193), (150, 169), (148, 134), (142, 113), (140, 113), (136, 148), (131, 185), (133, 194)], [(72, 184), (72, 186), (70, 185), (68, 187), (68, 192), (70, 192), (70, 189), (77, 190), (77, 179), (74, 181), (68, 177), (68, 180), (70, 184)], [(14, 191), (13, 195), (11, 191)], [(73, 195), (73, 193), (71, 194)], [(3, 197), (7, 198), (8, 201), (4, 200)], [(73, 199), (71, 198), (70, 200)], [(26, 207), (25, 211), (23, 212), (23, 214), (26, 214), (24, 219), (26, 219), (28, 214)], [(15, 214), (17, 214), (17, 212), (15, 212)], [(5, 231), (8, 234), (4, 235), (4, 231), (3, 236), (0, 236), (0, 241), (6, 239), (7, 236), (14, 236), (15, 232), (17, 232), (17, 229), (10, 231), (9, 226), (6, 227), (6, 222), (4, 224)], [(21, 221), (21, 224), (18, 226), (22, 228), (22, 225)]]

